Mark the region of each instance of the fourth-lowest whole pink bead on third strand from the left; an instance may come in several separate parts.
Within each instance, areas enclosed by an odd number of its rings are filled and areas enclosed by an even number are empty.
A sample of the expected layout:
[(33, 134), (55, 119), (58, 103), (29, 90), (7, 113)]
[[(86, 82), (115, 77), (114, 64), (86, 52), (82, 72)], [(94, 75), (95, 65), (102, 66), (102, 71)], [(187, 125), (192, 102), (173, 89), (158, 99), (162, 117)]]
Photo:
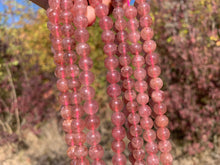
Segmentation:
[(99, 104), (95, 100), (88, 100), (83, 105), (83, 110), (89, 114), (93, 115), (99, 110)]

